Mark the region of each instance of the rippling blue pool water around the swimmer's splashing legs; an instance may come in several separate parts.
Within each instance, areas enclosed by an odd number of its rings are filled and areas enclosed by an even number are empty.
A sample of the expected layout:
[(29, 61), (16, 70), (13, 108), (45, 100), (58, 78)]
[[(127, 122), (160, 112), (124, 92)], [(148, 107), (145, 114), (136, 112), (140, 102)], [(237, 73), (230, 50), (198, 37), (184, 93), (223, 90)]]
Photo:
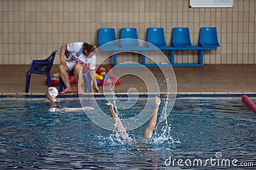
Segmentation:
[[(138, 102), (142, 107), (145, 100)], [(105, 101), (98, 103), (108, 113)], [(81, 106), (78, 100), (60, 105)], [(256, 166), (256, 114), (241, 100), (178, 99), (152, 140), (140, 141), (146, 125), (128, 132), (135, 143), (120, 141), (84, 112), (54, 113), (49, 107), (42, 101), (1, 101), (0, 169), (168, 169), (188, 167), (184, 161), (196, 158), (203, 164), (225, 158), (237, 159), (237, 166)], [(184, 160), (180, 166), (179, 159)], [(217, 163), (192, 167), (234, 169)]]

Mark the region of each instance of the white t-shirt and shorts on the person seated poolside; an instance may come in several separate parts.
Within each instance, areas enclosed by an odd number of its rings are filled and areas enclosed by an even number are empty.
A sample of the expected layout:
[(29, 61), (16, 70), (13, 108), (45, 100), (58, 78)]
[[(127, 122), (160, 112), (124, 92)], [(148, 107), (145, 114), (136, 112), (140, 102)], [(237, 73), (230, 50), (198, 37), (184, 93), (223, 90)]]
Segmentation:
[[(83, 42), (68, 43), (67, 50), (70, 52), (69, 57), (66, 59), (66, 64), (69, 70), (72, 70), (76, 63), (81, 63), (87, 66), (90, 70), (95, 70), (96, 68), (96, 56), (88, 58), (88, 56), (83, 54)], [(81, 50), (79, 52), (79, 50)]]

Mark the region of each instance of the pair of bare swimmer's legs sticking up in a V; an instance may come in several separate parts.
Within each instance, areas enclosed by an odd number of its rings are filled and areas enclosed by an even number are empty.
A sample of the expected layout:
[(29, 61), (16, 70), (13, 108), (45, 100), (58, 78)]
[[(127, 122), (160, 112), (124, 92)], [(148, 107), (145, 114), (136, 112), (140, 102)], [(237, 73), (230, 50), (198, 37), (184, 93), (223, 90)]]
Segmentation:
[[(160, 103), (161, 103), (160, 98), (156, 97), (155, 98), (155, 109), (154, 109), (154, 112), (153, 112), (149, 122), (148, 122), (148, 126), (145, 129), (145, 132), (143, 135), (144, 139), (150, 139), (152, 137), (152, 132), (153, 132), (154, 128), (156, 127), (157, 112), (158, 112)], [(128, 136), (125, 128), (123, 127), (122, 122), (116, 115), (116, 113), (114, 111), (113, 104), (108, 102), (108, 103), (106, 103), (106, 105), (108, 106), (111, 117), (113, 118), (114, 124), (116, 125), (116, 130), (119, 134), (120, 139), (129, 141), (129, 136)]]

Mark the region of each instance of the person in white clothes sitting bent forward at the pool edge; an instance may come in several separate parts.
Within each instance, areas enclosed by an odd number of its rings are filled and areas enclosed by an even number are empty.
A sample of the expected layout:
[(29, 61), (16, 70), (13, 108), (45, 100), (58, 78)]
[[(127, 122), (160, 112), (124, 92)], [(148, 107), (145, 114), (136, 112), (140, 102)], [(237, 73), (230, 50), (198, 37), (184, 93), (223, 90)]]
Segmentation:
[[(94, 50), (96, 49), (95, 45), (91, 45), (88, 42), (74, 42), (68, 43), (67, 45), (62, 45), (60, 49), (60, 65), (59, 72), (61, 79), (63, 80), (66, 88), (60, 92), (60, 94), (70, 93), (72, 88), (68, 79), (68, 72), (74, 70), (74, 75), (77, 79), (78, 84), (78, 94), (83, 93), (81, 91), (81, 75), (80, 72), (84, 65), (83, 70), (88, 70), (90, 77), (93, 80), (93, 88), (99, 92), (97, 86), (97, 80), (95, 77), (95, 68), (96, 68), (96, 56)], [(65, 52), (70, 52), (70, 56), (66, 58)]]

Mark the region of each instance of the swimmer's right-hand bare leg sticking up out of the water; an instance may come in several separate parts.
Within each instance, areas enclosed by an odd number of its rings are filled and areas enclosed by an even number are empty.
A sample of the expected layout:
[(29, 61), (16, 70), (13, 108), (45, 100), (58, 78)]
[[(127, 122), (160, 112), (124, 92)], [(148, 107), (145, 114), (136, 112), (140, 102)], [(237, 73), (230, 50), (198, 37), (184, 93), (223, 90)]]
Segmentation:
[(161, 100), (158, 97), (156, 97), (155, 98), (155, 109), (154, 109), (152, 117), (149, 120), (148, 127), (145, 129), (145, 132), (143, 135), (144, 139), (150, 139), (152, 137), (152, 132), (153, 132), (154, 128), (156, 127), (157, 111), (159, 109), (160, 103), (161, 103)]

